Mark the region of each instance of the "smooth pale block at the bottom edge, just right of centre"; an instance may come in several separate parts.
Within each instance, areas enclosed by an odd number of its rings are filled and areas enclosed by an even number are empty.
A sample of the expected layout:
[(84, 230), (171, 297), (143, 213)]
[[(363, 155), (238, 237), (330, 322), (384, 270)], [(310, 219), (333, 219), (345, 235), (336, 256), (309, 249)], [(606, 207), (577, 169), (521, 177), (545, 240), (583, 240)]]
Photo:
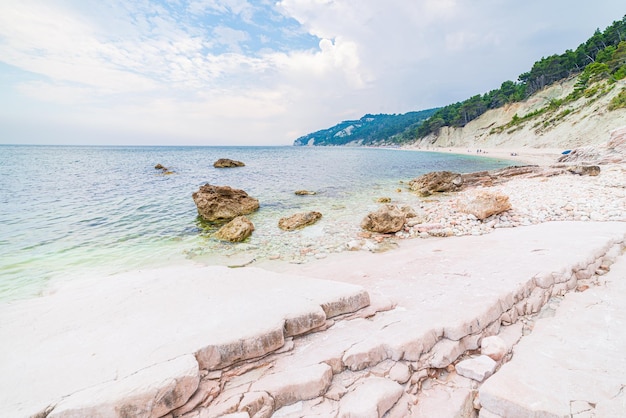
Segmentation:
[(370, 377), (356, 384), (339, 403), (338, 418), (380, 418), (400, 399), (404, 390), (394, 381)]

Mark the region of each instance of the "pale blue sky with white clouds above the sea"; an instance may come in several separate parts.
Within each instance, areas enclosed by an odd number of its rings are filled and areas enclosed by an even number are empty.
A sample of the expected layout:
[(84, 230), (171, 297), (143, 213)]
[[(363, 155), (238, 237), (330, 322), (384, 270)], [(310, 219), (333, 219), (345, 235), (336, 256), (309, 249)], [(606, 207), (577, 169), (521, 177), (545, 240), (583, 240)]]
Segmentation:
[(623, 0), (0, 0), (0, 143), (291, 145), (498, 88)]

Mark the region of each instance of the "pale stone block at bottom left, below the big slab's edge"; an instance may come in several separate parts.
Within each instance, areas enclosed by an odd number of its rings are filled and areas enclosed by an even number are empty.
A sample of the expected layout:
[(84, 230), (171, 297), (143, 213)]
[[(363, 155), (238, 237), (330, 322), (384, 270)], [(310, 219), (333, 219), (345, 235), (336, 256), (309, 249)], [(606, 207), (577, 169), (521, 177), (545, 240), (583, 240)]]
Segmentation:
[(73, 393), (49, 417), (160, 417), (182, 406), (198, 388), (198, 363), (184, 355), (128, 377)]

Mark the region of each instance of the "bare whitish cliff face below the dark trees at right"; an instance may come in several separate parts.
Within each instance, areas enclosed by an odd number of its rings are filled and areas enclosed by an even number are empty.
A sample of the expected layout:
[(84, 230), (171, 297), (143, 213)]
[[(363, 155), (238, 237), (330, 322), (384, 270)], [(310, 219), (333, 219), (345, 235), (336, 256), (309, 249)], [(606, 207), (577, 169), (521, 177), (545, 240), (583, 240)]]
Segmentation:
[(487, 111), (462, 128), (443, 127), (438, 135), (429, 135), (415, 143), (417, 147), (480, 148), (562, 148), (606, 142), (610, 132), (626, 125), (626, 109), (608, 110), (610, 101), (626, 88), (620, 80), (605, 95), (582, 97), (545, 112), (526, 122), (508, 126), (514, 115), (519, 118), (545, 108), (574, 91), (576, 78), (556, 83), (520, 103), (511, 103)]

